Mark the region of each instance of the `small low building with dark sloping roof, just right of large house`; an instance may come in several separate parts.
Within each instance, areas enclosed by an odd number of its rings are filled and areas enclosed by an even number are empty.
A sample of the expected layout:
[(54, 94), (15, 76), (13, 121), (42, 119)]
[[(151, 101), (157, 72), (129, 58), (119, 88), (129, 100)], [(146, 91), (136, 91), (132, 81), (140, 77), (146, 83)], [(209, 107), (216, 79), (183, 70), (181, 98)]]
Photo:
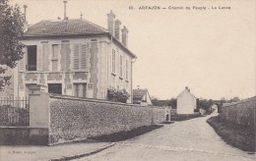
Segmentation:
[(133, 89), (133, 103), (141, 106), (153, 105), (148, 89)]

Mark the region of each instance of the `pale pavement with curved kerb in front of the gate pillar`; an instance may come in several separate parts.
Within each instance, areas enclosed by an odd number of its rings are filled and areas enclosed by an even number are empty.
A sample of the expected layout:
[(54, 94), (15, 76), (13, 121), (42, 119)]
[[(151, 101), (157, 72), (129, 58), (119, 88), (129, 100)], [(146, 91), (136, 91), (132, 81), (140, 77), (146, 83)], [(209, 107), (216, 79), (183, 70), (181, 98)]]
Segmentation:
[(92, 155), (114, 143), (86, 140), (70, 142), (53, 146), (32, 145), (0, 145), (1, 161), (45, 161), (70, 160), (82, 156)]

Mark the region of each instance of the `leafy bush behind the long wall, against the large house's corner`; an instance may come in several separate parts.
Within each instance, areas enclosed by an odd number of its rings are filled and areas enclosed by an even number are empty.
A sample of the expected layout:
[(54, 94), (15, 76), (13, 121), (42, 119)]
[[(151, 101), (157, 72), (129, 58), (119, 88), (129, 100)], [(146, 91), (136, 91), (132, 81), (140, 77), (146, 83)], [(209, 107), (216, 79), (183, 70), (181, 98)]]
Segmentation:
[(130, 94), (125, 90), (107, 89), (107, 99), (113, 102), (126, 103)]

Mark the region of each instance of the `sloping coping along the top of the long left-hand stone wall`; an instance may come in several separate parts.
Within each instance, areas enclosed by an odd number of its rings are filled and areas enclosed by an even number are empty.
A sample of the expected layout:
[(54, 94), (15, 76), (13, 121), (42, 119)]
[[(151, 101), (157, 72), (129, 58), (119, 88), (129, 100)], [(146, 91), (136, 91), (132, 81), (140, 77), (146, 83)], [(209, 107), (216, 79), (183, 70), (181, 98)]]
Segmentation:
[(140, 106), (138, 104), (131, 104), (131, 103), (121, 103), (121, 102), (111, 102), (102, 99), (96, 98), (80, 98), (71, 95), (61, 95), (55, 93), (48, 93), (50, 98), (58, 98), (58, 99), (69, 99), (69, 100), (81, 100), (81, 101), (89, 101), (89, 102), (97, 102), (97, 103), (108, 103), (108, 104), (115, 104), (115, 105), (125, 105), (125, 106), (135, 106), (135, 107), (144, 107), (144, 108), (156, 108), (156, 109), (164, 109), (156, 106)]

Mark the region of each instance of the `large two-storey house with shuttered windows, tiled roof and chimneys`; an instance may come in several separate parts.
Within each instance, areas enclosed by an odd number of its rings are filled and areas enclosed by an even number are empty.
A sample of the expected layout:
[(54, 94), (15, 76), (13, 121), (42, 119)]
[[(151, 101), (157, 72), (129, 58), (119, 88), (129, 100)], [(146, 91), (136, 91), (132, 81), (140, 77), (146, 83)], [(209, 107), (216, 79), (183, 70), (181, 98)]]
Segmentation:
[(136, 56), (127, 48), (128, 29), (120, 28), (112, 11), (107, 25), (64, 17), (29, 27), (20, 37), (26, 47), (16, 68), (15, 96), (28, 96), (34, 84), (46, 92), (96, 99), (106, 99), (107, 89), (116, 88), (126, 89), (131, 103)]

